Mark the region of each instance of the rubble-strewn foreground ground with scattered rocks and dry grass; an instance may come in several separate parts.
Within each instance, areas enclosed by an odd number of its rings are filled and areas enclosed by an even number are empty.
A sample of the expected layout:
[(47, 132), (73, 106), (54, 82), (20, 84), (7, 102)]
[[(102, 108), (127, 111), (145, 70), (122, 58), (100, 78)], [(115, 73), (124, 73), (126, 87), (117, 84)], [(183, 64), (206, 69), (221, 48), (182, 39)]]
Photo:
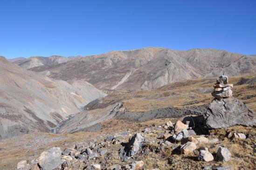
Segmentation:
[[(187, 117), (183, 119), (187, 122)], [(187, 122), (188, 124), (188, 122)], [(201, 134), (177, 121), (53, 147), (18, 170), (253, 170), (256, 129), (235, 126)], [(142, 125), (141, 125), (142, 126)], [(131, 127), (132, 128), (132, 127)], [(98, 139), (98, 140), (97, 140)]]

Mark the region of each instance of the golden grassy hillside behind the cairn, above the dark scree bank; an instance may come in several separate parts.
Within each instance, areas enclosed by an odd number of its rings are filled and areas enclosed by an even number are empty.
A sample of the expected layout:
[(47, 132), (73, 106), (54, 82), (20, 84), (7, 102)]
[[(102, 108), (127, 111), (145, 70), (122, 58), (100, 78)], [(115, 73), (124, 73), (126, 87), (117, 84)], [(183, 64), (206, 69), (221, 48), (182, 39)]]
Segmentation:
[[(255, 77), (256, 75), (229, 77), (229, 83), (235, 84), (241, 81), (242, 78), (249, 79)], [(186, 80), (171, 83), (155, 90), (122, 93), (121, 96), (125, 107), (130, 111), (147, 111), (168, 106), (176, 108), (199, 106), (209, 104), (214, 99), (210, 91), (214, 89), (213, 85), (215, 81), (215, 78)], [(207, 89), (207, 93), (202, 93)], [(256, 112), (256, 83), (237, 85), (234, 86), (232, 91), (234, 97), (248, 104), (248, 106)], [(114, 101), (117, 95), (112, 94), (105, 98), (106, 100)]]

